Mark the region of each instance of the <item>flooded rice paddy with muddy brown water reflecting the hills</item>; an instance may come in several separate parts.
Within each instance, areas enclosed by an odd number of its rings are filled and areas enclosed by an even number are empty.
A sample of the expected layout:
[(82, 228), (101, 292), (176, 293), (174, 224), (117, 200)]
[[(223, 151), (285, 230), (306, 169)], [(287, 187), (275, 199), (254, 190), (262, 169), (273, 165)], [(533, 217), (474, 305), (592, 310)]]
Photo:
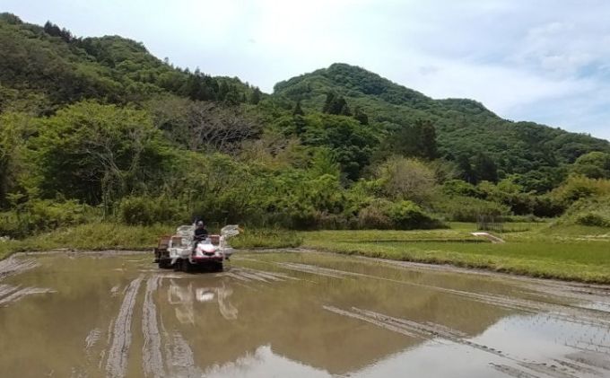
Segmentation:
[(1, 377), (610, 377), (610, 287), (315, 252), (0, 261)]

